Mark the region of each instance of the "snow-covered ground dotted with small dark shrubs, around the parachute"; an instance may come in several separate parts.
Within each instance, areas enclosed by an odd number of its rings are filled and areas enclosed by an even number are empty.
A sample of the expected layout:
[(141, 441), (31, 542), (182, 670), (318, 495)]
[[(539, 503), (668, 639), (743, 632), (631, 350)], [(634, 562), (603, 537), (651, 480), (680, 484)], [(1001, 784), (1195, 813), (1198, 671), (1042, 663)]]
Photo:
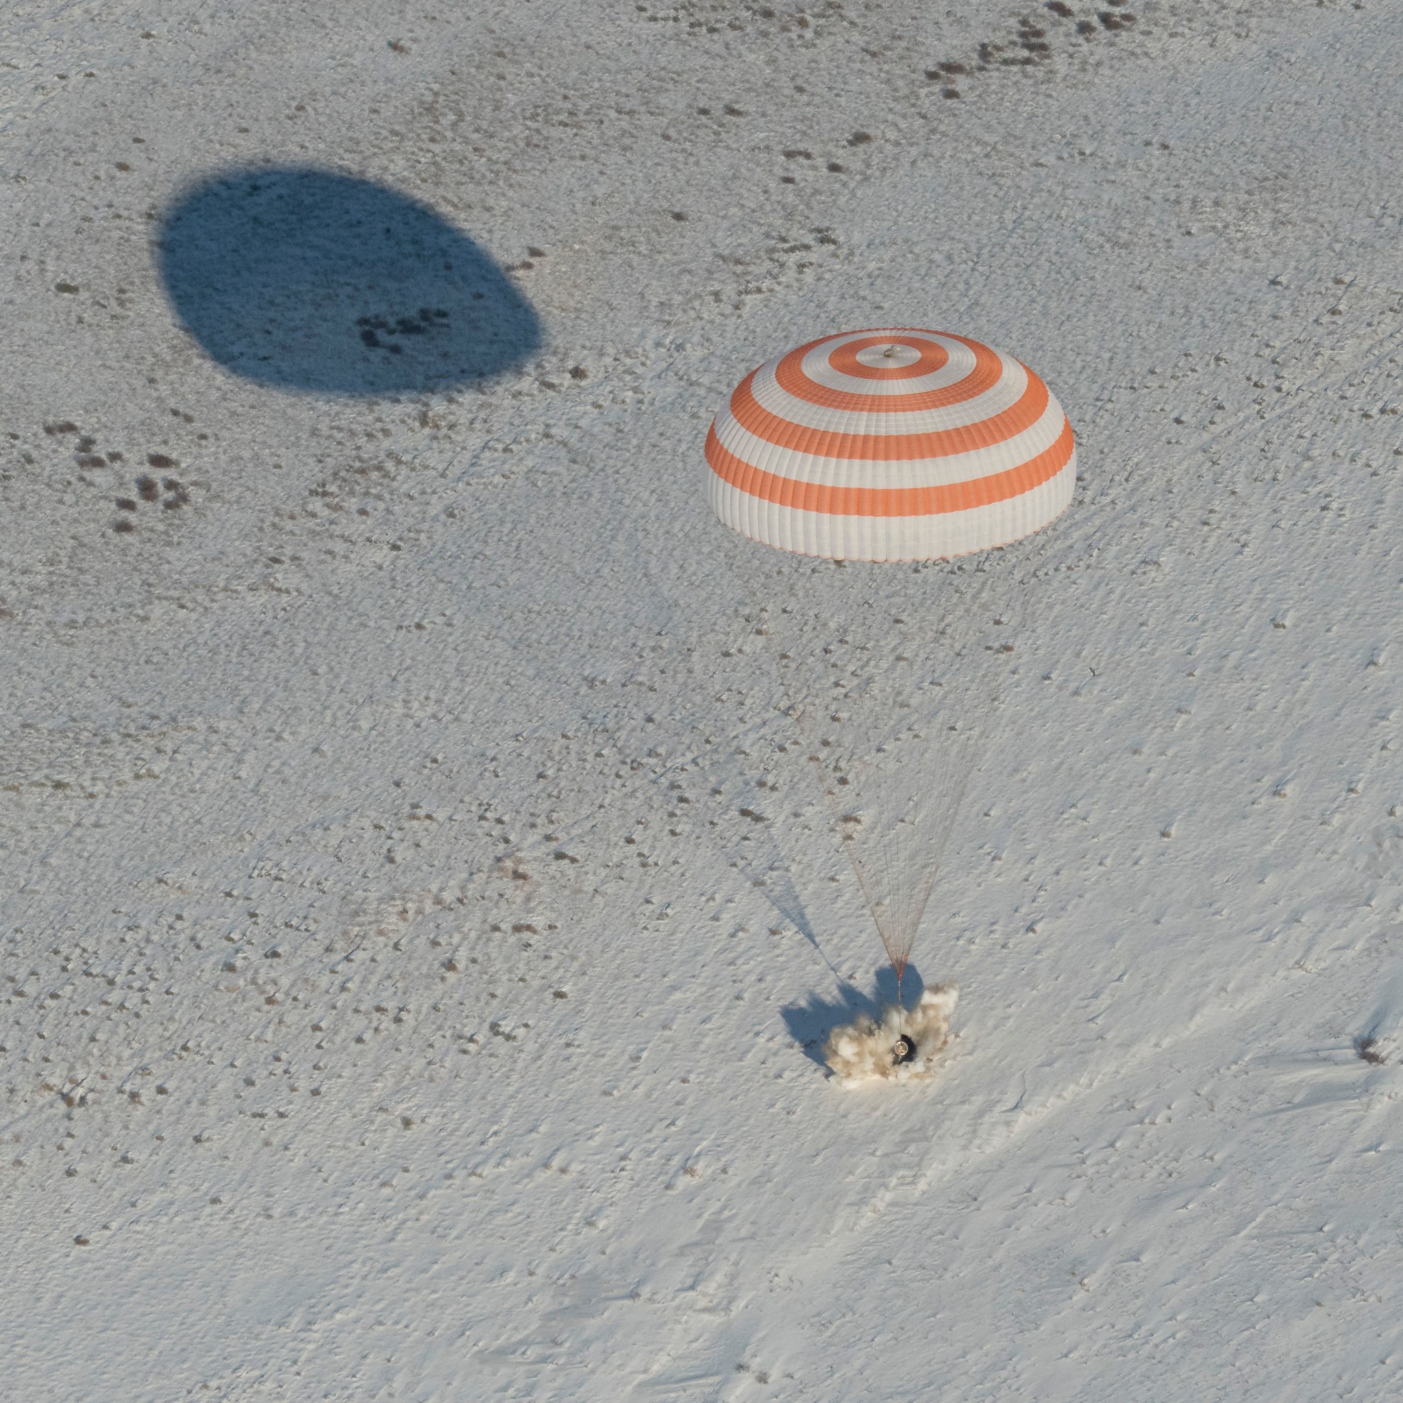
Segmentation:
[[(1104, 3), (6, 7), (6, 1397), (1403, 1395), (1403, 6)], [(258, 220), (192, 306), (264, 174), (442, 223), (491, 373), (384, 380), (373, 278), (258, 361)], [(702, 439), (894, 320), (1085, 480), (957, 1040), (843, 1090), (881, 947)]]

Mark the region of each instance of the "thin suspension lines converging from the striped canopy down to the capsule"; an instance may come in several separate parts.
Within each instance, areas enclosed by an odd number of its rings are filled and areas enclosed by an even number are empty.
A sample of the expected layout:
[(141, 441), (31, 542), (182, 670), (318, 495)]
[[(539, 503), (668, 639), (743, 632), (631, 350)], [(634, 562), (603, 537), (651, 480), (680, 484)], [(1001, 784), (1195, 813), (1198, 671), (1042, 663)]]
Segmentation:
[(1002, 629), (1019, 609), (998, 598), (1007, 571), (950, 571), (933, 598), (929, 581), (904, 588), (901, 575), (863, 588), (861, 570), (774, 571), (797, 591), (787, 603), (769, 578), (749, 592), (759, 605), (755, 633), (774, 652), (788, 716), (819, 767), (897, 976), (892, 1059), (901, 1063), (916, 1054), (905, 1031), (906, 968), (1003, 690), (999, 661), (1012, 647), (1000, 645)]

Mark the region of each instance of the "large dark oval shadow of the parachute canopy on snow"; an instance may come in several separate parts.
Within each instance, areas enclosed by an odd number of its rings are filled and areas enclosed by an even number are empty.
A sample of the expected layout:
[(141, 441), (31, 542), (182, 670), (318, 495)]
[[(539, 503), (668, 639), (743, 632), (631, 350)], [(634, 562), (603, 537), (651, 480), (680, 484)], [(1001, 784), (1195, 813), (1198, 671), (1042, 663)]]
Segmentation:
[(335, 396), (450, 390), (521, 366), (540, 320), (432, 209), (314, 167), (223, 171), (167, 210), (160, 272), (226, 370)]

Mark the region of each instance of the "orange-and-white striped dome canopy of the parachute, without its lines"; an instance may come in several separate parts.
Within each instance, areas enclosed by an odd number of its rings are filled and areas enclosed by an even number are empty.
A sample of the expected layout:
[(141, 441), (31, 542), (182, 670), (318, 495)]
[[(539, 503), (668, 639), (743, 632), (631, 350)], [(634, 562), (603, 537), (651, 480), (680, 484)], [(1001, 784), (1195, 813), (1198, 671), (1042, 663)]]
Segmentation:
[(711, 506), (835, 560), (939, 560), (1030, 536), (1072, 501), (1072, 425), (1020, 361), (948, 331), (810, 341), (752, 370), (706, 441)]

